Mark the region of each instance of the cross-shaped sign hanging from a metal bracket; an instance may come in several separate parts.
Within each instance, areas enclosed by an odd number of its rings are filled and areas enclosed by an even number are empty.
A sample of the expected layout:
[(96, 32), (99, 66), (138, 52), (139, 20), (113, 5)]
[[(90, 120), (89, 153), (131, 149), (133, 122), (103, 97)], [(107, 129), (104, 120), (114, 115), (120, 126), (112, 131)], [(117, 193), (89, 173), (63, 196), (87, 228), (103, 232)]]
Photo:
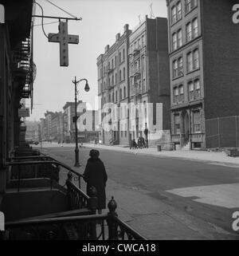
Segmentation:
[(60, 65), (69, 65), (68, 44), (79, 44), (79, 36), (68, 34), (67, 22), (60, 22), (58, 26), (59, 33), (49, 33), (48, 41), (60, 43)]

